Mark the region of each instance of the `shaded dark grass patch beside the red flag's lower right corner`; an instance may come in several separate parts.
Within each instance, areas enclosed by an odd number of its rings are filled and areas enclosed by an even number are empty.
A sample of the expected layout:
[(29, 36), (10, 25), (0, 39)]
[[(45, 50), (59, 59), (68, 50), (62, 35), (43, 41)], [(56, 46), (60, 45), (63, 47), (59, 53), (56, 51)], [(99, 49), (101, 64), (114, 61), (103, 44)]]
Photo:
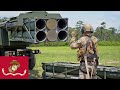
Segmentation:
[(29, 79), (42, 79), (39, 70), (29, 70)]

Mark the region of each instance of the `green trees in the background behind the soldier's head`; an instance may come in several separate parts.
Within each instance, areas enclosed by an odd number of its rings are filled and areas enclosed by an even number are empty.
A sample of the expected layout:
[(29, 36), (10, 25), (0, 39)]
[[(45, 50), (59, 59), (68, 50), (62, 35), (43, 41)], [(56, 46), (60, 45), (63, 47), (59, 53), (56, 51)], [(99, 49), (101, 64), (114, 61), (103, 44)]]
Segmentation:
[[(83, 25), (83, 21), (78, 21), (75, 28), (69, 27), (69, 34), (72, 31), (76, 31), (77, 37), (81, 37), (80, 29)], [(106, 28), (106, 22), (101, 22), (100, 26), (98, 26), (93, 35), (95, 35), (99, 41), (120, 41), (120, 28), (116, 29), (115, 27)]]

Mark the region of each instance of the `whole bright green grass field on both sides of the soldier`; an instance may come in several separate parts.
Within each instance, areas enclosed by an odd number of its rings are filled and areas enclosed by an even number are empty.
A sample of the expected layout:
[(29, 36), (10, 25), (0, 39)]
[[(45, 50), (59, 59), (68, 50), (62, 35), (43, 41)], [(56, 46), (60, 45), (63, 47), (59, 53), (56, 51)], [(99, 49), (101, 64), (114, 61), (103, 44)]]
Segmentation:
[[(36, 55), (36, 66), (31, 70), (31, 78), (40, 78), (42, 73), (42, 62), (75, 62), (76, 51), (69, 47), (30, 47), (39, 49), (41, 54)], [(99, 46), (99, 63), (107, 66), (120, 66), (120, 46)]]

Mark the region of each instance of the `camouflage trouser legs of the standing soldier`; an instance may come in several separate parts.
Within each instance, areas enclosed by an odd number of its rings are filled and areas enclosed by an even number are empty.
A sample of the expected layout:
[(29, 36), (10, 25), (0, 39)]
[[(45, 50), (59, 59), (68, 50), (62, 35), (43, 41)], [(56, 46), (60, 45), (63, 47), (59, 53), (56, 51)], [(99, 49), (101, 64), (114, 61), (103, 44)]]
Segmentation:
[[(91, 79), (97, 79), (97, 72), (96, 72), (96, 66), (92, 62), (88, 62), (88, 65), (92, 67), (93, 73)], [(91, 69), (89, 68), (89, 73), (91, 74)], [(85, 62), (80, 62), (80, 69), (79, 69), (79, 79), (86, 79), (87, 73), (86, 73), (86, 67)]]

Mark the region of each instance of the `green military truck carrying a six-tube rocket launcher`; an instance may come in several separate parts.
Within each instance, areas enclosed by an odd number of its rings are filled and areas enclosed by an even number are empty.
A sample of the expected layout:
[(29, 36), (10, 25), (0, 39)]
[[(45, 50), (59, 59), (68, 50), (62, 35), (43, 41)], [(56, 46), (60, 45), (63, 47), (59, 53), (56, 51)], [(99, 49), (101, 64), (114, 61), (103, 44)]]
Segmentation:
[(34, 54), (30, 44), (68, 40), (68, 18), (59, 13), (31, 11), (0, 22), (0, 56), (29, 56), (29, 69), (35, 66)]

